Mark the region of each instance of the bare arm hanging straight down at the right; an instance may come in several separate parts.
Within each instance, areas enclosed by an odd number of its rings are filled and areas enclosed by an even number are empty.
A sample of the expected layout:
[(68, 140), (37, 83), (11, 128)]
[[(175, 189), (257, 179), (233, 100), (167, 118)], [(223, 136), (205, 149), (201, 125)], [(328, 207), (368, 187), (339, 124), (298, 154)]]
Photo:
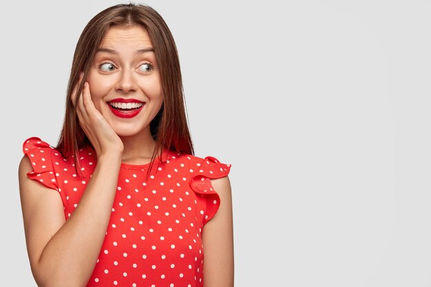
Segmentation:
[(228, 177), (211, 180), (220, 207), (204, 225), (204, 287), (233, 287), (233, 219)]

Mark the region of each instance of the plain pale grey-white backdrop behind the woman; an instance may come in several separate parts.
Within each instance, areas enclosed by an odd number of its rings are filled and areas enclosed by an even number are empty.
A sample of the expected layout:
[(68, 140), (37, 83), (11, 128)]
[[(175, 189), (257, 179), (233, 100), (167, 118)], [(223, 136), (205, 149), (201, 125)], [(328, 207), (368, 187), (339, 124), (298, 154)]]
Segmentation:
[[(0, 285), (36, 286), (17, 169), (56, 144), (78, 36), (117, 1), (1, 8)], [(430, 1), (146, 1), (196, 155), (231, 163), (235, 286), (431, 286)]]

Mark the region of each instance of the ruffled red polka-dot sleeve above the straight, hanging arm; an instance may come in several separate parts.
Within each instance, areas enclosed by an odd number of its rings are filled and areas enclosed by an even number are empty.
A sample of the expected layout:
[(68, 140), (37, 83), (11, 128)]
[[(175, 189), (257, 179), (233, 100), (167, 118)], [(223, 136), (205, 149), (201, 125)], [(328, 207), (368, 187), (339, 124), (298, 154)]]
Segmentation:
[(215, 215), (220, 207), (220, 197), (214, 190), (211, 179), (224, 178), (229, 174), (230, 164), (223, 164), (212, 156), (207, 156), (198, 164), (198, 171), (191, 178), (190, 186), (205, 201), (203, 224), (206, 224)]

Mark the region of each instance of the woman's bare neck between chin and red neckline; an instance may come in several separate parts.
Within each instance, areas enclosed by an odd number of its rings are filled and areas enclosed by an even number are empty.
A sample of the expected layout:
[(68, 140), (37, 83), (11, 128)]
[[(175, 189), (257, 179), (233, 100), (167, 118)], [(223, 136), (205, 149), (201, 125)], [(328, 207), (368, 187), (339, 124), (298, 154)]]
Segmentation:
[(149, 131), (145, 134), (134, 136), (120, 136), (124, 150), (122, 162), (128, 164), (147, 164), (151, 161), (156, 141)]

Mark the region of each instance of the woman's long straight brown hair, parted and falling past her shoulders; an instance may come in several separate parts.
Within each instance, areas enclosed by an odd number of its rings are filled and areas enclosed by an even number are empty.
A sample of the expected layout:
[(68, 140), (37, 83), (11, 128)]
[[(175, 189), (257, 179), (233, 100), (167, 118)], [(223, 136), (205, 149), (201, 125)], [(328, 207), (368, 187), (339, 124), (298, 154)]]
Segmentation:
[[(81, 33), (75, 48), (67, 85), (65, 119), (56, 148), (65, 157), (74, 156), (76, 167), (78, 167), (78, 150), (87, 146), (92, 147), (90, 140), (79, 125), (76, 105), (73, 105), (71, 96), (74, 87), (78, 84), (81, 72), (83, 72), (83, 78), (87, 78), (103, 37), (114, 25), (141, 25), (147, 30), (151, 43), (154, 45), (164, 99), (160, 111), (150, 123), (151, 135), (156, 140), (152, 158), (156, 158), (156, 153), (162, 148), (193, 154), (193, 144), (187, 125), (180, 61), (174, 38), (156, 10), (133, 3), (119, 4), (99, 12), (87, 23)], [(76, 102), (81, 95), (84, 82), (82, 81), (78, 86)], [(161, 156), (160, 153), (159, 156)]]

